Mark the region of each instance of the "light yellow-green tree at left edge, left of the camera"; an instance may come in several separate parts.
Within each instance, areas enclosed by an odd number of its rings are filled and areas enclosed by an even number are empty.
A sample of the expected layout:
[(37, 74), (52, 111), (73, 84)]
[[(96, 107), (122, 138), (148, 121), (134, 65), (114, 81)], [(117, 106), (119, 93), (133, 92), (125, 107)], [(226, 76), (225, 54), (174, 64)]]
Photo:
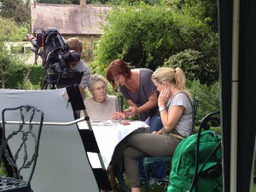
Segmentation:
[(2, 88), (12, 75), (23, 67), (23, 62), (10, 55), (7, 46), (11, 41), (20, 41), (26, 37), (27, 29), (17, 26), (15, 20), (0, 17), (0, 78)]

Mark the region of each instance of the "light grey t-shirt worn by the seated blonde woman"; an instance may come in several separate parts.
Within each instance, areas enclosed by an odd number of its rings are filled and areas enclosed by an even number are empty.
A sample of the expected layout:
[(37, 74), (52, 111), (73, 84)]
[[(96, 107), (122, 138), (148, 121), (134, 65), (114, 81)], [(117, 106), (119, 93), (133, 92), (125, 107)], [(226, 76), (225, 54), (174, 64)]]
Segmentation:
[(173, 131), (177, 131), (183, 137), (188, 137), (191, 134), (193, 124), (193, 108), (192, 103), (189, 101), (189, 97), (186, 96), (183, 92), (178, 92), (175, 96), (172, 97), (170, 104), (168, 104), (166, 108), (170, 110), (172, 106), (183, 106), (185, 108), (183, 115), (178, 120), (177, 125)]

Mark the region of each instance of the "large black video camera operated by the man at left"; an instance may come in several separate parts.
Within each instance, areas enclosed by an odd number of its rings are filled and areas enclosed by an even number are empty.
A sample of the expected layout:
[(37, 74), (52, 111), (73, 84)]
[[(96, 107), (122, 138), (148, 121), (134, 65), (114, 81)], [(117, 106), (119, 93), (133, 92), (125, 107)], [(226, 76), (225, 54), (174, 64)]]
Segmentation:
[[(35, 38), (30, 41), (33, 45), (31, 49), (35, 53), (35, 63), (38, 56), (43, 59), (42, 67), (47, 70), (47, 77), (44, 80), (44, 89), (48, 84), (53, 87), (63, 87), (70, 84), (79, 84), (82, 74), (73, 71), (69, 63), (79, 61), (80, 54), (73, 50), (68, 50), (67, 44), (61, 33), (55, 27), (49, 27), (48, 30), (36, 28), (33, 31)], [(29, 34), (27, 38), (29, 38)], [(54, 88), (51, 88), (54, 89)]]

